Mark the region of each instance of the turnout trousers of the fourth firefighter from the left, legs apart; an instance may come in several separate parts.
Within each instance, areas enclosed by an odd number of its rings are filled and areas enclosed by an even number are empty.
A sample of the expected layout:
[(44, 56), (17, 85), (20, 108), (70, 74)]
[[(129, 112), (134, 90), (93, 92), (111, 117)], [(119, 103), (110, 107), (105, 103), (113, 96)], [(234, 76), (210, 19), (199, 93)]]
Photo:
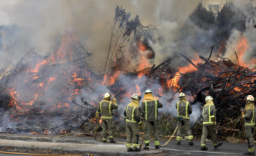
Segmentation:
[(190, 130), (190, 120), (189, 119), (182, 119), (182, 121), (178, 120), (178, 131), (177, 131), (177, 142), (181, 142), (181, 131), (182, 128), (185, 128), (186, 132), (188, 133), (188, 140), (192, 141), (193, 135)]

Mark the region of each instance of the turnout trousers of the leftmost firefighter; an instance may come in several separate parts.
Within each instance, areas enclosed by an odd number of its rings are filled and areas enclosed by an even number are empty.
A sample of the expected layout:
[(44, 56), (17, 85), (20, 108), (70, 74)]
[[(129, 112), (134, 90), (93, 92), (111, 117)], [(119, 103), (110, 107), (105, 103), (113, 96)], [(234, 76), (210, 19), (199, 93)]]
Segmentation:
[(101, 122), (101, 128), (102, 128), (102, 140), (107, 140), (107, 131), (109, 129), (109, 138), (114, 138), (114, 124), (113, 119), (112, 120), (103, 120)]

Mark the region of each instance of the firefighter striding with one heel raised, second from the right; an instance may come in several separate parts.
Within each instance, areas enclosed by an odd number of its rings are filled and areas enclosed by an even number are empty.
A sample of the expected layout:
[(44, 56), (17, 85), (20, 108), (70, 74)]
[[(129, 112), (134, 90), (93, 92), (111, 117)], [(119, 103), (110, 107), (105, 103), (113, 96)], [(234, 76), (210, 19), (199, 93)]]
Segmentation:
[(222, 146), (222, 142), (217, 142), (216, 139), (216, 108), (213, 103), (213, 98), (211, 96), (206, 96), (205, 98), (206, 104), (203, 107), (203, 130), (201, 137), (201, 150), (208, 150), (205, 145), (205, 140), (207, 135), (211, 134), (212, 143), (214, 148)]

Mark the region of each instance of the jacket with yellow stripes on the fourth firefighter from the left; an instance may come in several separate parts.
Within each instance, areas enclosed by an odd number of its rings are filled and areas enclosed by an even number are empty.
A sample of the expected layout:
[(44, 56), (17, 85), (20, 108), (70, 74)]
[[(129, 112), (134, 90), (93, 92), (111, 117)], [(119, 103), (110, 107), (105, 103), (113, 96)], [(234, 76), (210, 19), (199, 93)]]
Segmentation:
[(178, 111), (177, 117), (182, 117), (184, 119), (189, 119), (189, 115), (192, 113), (191, 104), (187, 101), (186, 97), (180, 98), (176, 104), (176, 109)]

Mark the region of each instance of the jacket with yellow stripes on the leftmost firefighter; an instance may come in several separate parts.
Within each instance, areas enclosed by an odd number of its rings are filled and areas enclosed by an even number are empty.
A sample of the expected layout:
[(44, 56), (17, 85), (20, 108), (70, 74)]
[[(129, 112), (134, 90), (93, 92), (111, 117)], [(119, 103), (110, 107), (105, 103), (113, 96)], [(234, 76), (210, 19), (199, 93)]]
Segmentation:
[(101, 112), (102, 120), (112, 120), (113, 109), (118, 109), (116, 102), (111, 102), (109, 100), (102, 100), (99, 103), (96, 113)]

